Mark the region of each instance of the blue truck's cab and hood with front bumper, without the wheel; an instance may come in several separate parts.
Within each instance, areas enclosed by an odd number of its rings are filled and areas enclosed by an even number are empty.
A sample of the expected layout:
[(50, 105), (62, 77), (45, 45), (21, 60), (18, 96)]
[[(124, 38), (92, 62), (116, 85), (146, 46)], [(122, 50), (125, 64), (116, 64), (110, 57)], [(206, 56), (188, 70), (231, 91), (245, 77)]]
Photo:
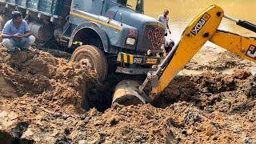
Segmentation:
[[(109, 66), (114, 65), (113, 62), (118, 64), (117, 72), (146, 74), (161, 61), (155, 55), (161, 52), (164, 27), (143, 14), (143, 3), (143, 0), (74, 0), (69, 20), (74, 30), (71, 30), (69, 46), (74, 42), (89, 42), (86, 45), (97, 46), (107, 53)], [(79, 30), (85, 31), (79, 33)], [(87, 30), (95, 30), (101, 41), (86, 41), (87, 37), (92, 38)], [(114, 58), (112, 63), (110, 58)]]

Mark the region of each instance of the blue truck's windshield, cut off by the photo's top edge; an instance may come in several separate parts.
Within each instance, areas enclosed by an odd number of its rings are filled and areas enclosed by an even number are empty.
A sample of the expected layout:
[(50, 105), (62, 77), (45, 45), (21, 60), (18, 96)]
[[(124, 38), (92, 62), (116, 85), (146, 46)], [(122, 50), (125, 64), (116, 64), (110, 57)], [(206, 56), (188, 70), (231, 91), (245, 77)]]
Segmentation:
[[(114, 0), (112, 0), (114, 1)], [(138, 13), (144, 13), (143, 0), (117, 0), (118, 4), (136, 10)]]

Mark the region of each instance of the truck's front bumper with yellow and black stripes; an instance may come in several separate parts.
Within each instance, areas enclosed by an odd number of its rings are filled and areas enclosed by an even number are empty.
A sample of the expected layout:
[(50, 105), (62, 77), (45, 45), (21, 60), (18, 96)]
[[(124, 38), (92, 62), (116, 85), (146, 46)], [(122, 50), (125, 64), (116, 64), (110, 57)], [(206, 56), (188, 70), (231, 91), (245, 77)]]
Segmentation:
[(160, 57), (148, 57), (143, 55), (133, 55), (119, 52), (118, 62), (138, 65), (157, 65), (161, 62)]

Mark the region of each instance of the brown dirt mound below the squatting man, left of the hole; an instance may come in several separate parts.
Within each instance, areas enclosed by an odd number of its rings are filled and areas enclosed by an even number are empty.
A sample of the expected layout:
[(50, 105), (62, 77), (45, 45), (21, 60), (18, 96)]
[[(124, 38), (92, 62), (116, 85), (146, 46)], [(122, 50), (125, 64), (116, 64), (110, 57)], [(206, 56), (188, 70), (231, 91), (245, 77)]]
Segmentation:
[(40, 102), (51, 110), (66, 105), (80, 110), (86, 83), (96, 83), (94, 73), (79, 63), (69, 63), (40, 50), (17, 52), (11, 56), (4, 51), (0, 54), (4, 58), (0, 74), (19, 97), (10, 102), (10, 106), (23, 101), (34, 105)]

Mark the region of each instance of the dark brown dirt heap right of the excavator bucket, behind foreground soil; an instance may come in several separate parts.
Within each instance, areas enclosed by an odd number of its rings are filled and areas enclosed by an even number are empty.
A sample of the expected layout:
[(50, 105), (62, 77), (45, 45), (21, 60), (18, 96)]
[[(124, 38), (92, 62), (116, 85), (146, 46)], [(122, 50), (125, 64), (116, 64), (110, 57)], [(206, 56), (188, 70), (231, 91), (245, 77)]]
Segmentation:
[(230, 106), (230, 102), (239, 103), (255, 97), (254, 79), (255, 76), (248, 70), (235, 70), (234, 74), (211, 71), (200, 75), (186, 75), (175, 78), (155, 105), (166, 107), (174, 102), (186, 101), (194, 102), (195, 106), (204, 110), (218, 104), (222, 105), (221, 101), (224, 99)]

